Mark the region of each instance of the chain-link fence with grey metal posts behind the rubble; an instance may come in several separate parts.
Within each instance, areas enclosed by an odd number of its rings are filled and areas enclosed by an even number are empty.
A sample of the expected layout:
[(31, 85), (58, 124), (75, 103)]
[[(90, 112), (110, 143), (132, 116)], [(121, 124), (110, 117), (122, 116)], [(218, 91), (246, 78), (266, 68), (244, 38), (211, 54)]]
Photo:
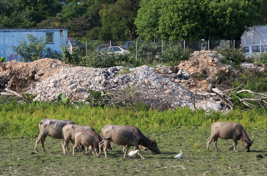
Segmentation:
[(94, 52), (102, 50), (109, 46), (119, 46), (129, 51), (129, 54), (136, 59), (141, 59), (145, 63), (153, 63), (159, 61), (159, 55), (164, 51), (170, 50), (172, 47), (181, 47), (190, 49), (192, 52), (201, 50), (217, 50), (224, 45), (230, 45), (238, 48), (241, 46), (241, 40), (198, 40), (198, 41), (85, 41), (83, 45), (86, 52)]

